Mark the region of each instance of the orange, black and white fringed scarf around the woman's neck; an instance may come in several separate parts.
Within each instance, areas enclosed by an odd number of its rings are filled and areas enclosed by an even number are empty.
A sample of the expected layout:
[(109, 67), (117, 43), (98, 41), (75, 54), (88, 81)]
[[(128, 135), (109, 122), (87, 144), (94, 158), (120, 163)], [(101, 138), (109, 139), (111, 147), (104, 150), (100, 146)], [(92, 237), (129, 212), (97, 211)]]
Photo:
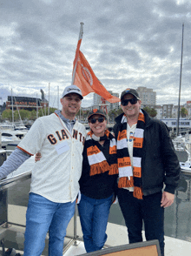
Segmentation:
[(95, 141), (92, 138), (93, 132), (89, 131), (86, 137), (87, 154), (90, 165), (89, 175), (93, 176), (95, 174), (100, 174), (103, 172), (108, 172), (109, 175), (114, 175), (118, 173), (117, 157), (116, 157), (116, 141), (114, 136), (108, 131), (105, 131), (106, 138), (109, 138), (109, 161), (106, 160), (104, 154), (95, 145)]

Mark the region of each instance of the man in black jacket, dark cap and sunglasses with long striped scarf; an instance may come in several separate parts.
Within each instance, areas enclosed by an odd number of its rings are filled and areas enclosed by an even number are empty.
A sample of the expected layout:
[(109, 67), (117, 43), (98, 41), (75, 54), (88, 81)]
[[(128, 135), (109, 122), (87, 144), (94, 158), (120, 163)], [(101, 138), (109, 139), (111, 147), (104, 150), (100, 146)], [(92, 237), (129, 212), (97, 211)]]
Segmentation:
[(137, 91), (122, 91), (121, 103), (114, 132), (118, 199), (129, 243), (142, 241), (144, 221), (146, 239), (158, 239), (164, 255), (164, 208), (174, 202), (181, 168), (167, 126), (141, 110)]

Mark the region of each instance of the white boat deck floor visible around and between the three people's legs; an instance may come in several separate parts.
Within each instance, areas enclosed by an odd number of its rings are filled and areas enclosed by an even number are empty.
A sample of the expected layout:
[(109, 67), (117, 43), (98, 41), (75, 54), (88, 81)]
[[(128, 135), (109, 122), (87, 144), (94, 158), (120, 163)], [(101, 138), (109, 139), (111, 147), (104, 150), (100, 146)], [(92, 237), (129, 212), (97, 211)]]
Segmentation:
[[(15, 210), (15, 209), (14, 209)], [(20, 210), (20, 209), (19, 209)], [(77, 222), (79, 219), (77, 219)], [(0, 231), (0, 238), (1, 238)], [(4, 231), (3, 231), (4, 232)], [(16, 253), (21, 253), (23, 255), (23, 233), (24, 228), (21, 226), (10, 226), (6, 230), (6, 236), (4, 239), (9, 239), (9, 247), (16, 248)], [(127, 229), (125, 226), (119, 226), (109, 223), (107, 228), (108, 240), (107, 244), (112, 246), (121, 246), (128, 244), (127, 238)], [(143, 232), (144, 238), (144, 232)], [(145, 239), (144, 239), (145, 240)], [(75, 256), (86, 253), (82, 240), (73, 240), (69, 237), (66, 237), (64, 242), (64, 256)], [(107, 247), (107, 246), (106, 246)], [(5, 249), (6, 242), (5, 242)], [(170, 237), (165, 237), (165, 255), (167, 256), (189, 256), (191, 251), (191, 243), (181, 239), (174, 239)], [(43, 256), (48, 256), (48, 236), (46, 239), (46, 246), (43, 251)]]

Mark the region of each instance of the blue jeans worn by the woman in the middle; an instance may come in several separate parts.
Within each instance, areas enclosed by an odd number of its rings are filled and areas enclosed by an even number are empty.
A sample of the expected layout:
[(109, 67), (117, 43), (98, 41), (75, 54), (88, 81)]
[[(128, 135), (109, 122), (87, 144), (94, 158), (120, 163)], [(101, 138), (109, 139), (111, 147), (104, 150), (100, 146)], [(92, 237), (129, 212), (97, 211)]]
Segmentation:
[(78, 212), (87, 253), (101, 250), (105, 244), (111, 203), (112, 195), (107, 199), (91, 199), (82, 195)]

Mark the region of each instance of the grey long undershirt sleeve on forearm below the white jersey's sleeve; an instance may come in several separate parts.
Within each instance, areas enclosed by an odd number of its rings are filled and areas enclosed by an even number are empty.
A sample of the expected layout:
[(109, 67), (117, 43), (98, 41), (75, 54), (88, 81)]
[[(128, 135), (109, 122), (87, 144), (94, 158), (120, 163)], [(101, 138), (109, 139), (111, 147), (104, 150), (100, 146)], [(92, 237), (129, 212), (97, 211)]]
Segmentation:
[(16, 171), (16, 169), (23, 164), (27, 159), (30, 158), (30, 155), (23, 152), (22, 150), (16, 148), (14, 152), (10, 154), (10, 157), (3, 162), (3, 165), (0, 167), (0, 179), (7, 177), (10, 172)]

